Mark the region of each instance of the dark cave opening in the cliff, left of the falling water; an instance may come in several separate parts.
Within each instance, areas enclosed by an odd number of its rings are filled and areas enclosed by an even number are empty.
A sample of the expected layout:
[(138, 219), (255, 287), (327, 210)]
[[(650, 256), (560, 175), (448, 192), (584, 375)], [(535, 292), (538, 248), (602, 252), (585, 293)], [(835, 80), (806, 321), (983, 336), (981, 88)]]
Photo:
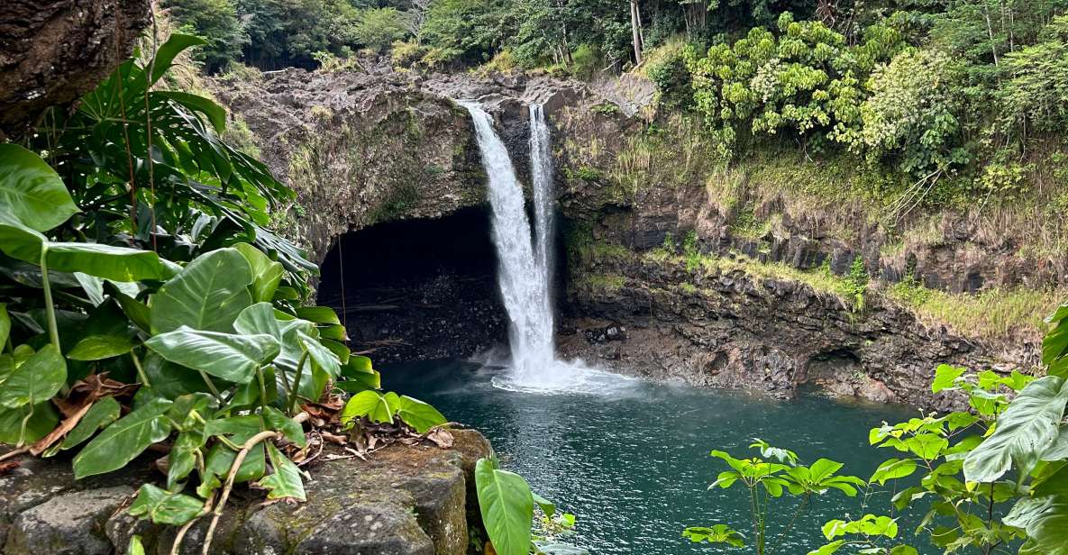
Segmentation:
[(376, 363), (464, 358), (507, 343), (489, 213), (386, 222), (334, 241), (318, 303)]

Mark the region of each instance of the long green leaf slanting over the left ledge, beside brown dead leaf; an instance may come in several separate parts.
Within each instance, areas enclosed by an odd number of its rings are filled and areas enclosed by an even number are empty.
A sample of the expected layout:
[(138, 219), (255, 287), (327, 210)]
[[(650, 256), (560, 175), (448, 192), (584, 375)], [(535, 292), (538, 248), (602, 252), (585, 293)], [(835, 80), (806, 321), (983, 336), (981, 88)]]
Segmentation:
[(116, 471), (171, 432), (168, 399), (152, 399), (108, 426), (74, 458), (75, 478)]

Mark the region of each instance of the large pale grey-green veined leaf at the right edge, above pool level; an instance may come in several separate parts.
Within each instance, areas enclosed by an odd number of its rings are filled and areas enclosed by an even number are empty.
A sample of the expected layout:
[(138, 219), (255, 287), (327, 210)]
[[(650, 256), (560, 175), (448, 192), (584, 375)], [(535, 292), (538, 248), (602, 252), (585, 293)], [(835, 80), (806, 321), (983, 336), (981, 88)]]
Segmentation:
[(994, 432), (964, 458), (964, 478), (994, 481), (1014, 463), (1019, 472), (1031, 472), (1056, 441), (1066, 402), (1068, 382), (1062, 378), (1047, 376), (1027, 384), (998, 418)]

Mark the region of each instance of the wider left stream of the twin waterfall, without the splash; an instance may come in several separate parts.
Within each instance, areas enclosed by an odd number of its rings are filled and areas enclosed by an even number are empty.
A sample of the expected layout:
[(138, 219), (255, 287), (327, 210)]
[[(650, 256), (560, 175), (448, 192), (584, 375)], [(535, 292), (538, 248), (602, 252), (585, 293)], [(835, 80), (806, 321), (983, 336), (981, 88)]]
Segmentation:
[[(545, 265), (550, 258), (546, 238), (549, 229), (539, 229), (535, 250), (523, 206), (523, 190), (508, 158), (508, 150), (493, 129), (492, 118), (477, 105), (460, 104), (474, 121), (482, 164), (489, 178), (493, 244), (500, 261), (497, 280), (511, 320), (508, 339), (513, 377), (520, 383), (537, 382), (555, 362), (549, 269)], [(539, 180), (551, 180), (551, 176)], [(545, 194), (544, 191), (540, 193)], [(551, 199), (541, 202), (547, 206), (536, 211), (550, 211), (548, 204)], [(540, 222), (543, 216), (537, 219)]]

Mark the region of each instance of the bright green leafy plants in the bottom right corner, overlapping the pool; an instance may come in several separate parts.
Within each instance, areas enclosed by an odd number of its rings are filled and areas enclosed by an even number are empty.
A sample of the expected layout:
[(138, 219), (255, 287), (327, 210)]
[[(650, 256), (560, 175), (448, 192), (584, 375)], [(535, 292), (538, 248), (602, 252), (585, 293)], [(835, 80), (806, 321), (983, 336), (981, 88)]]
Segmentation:
[[(1068, 304), (1048, 321), (1053, 328), (1042, 343), (1046, 376), (991, 370), (969, 374), (961, 367), (941, 365), (931, 392), (957, 396), (967, 402), (967, 410), (922, 414), (871, 429), (871, 445), (900, 455), (880, 464), (866, 481), (847, 479), (848, 488), (855, 486), (864, 492), (858, 511), (863, 517), (828, 522), (822, 527), (828, 543), (810, 555), (843, 550), (914, 555), (913, 546), (898, 540), (894, 511), (906, 510), (924, 512), (915, 534), (945, 553), (1068, 553)], [(800, 486), (801, 480), (791, 472), (819, 477), (822, 473), (816, 472), (817, 465), (834, 471), (838, 466), (817, 461), (805, 473), (797, 470), (800, 466), (791, 451), (772, 449), (763, 442), (754, 447), (765, 459), (774, 461), (738, 460), (712, 451), (733, 469), (722, 473), (713, 486), (740, 482), (750, 489), (755, 500), (752, 545), (754, 552), (764, 553), (770, 548), (763, 530), (768, 496), (810, 489)], [(884, 488), (892, 494), (890, 514), (868, 513), (868, 500)], [(693, 541), (735, 548), (745, 544), (740, 533), (724, 524), (687, 528), (684, 534)]]

